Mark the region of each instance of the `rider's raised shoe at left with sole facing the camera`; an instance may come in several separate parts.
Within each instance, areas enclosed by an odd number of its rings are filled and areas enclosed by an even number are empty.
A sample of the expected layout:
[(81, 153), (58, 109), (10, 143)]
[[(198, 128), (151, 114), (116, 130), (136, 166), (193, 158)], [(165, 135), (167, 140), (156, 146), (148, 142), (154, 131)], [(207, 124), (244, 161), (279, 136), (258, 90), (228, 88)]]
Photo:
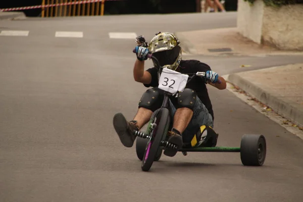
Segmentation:
[(136, 136), (133, 134), (134, 130), (139, 130), (135, 125), (136, 121), (126, 121), (125, 117), (121, 113), (117, 113), (113, 119), (114, 128), (120, 138), (122, 144), (126, 147), (132, 147)]

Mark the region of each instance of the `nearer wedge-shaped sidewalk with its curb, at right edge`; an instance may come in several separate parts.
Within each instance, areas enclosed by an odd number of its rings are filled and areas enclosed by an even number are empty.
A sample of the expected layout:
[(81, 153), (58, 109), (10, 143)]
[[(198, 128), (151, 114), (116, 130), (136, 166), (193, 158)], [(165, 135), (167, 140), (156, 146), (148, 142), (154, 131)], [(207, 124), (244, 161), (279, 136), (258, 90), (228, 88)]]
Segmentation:
[(303, 127), (303, 63), (228, 75), (226, 80)]

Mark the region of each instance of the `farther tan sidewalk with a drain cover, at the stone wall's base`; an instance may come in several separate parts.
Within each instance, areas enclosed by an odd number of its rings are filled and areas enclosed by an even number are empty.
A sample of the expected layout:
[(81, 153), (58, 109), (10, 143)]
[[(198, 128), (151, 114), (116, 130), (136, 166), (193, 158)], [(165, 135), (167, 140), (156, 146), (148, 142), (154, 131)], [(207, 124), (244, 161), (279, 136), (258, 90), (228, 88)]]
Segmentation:
[(181, 47), (187, 54), (208, 56), (302, 55), (303, 52), (279, 51), (243, 37), (237, 28), (221, 28), (177, 32)]

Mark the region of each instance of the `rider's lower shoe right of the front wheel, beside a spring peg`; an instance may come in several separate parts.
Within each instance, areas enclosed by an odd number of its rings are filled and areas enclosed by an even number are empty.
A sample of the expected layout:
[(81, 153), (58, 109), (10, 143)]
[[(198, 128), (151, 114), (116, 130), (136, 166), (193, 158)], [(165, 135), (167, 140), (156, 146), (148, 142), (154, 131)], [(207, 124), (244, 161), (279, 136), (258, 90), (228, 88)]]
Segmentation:
[(181, 133), (180, 133), (177, 129), (175, 129), (175, 128), (173, 128), (172, 131), (168, 131), (168, 134), (167, 134), (167, 135), (168, 135), (167, 141), (168, 141), (169, 143), (176, 144), (178, 147), (177, 147), (177, 149), (175, 149), (175, 148), (170, 148), (170, 147), (166, 147), (166, 148), (164, 149), (163, 154), (166, 155), (166, 156), (168, 156), (168, 157), (174, 157), (174, 156), (177, 154), (178, 150), (179, 150), (179, 149), (182, 147), (182, 145), (183, 145), (182, 135), (181, 135)]

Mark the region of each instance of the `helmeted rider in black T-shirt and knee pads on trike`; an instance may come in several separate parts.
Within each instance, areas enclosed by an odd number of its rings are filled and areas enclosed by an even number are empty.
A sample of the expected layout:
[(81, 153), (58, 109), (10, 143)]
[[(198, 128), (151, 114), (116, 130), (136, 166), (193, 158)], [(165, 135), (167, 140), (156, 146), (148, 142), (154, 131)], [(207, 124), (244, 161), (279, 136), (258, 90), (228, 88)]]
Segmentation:
[[(207, 64), (197, 60), (182, 60), (179, 44), (179, 39), (172, 33), (159, 32), (151, 39), (148, 47), (135, 47), (137, 60), (133, 68), (134, 80), (143, 83), (145, 87), (153, 88), (147, 89), (143, 93), (138, 104), (137, 114), (132, 121), (128, 122), (121, 113), (115, 114), (114, 128), (124, 146), (132, 147), (136, 138), (132, 131), (141, 129), (163, 102), (164, 91), (158, 88), (161, 70), (154, 63), (155, 67), (144, 71), (147, 54), (151, 53), (156, 57), (160, 66), (182, 74), (206, 72), (206, 77), (211, 80), (210, 85), (218, 89), (226, 88), (225, 79), (212, 71)], [(217, 83), (218, 80), (221, 81), (220, 84)], [(173, 113), (173, 127), (168, 132), (167, 141), (176, 144), (178, 148), (165, 148), (163, 154), (173, 157), (182, 147), (183, 141), (190, 142), (201, 125), (214, 126), (212, 103), (203, 78), (195, 77), (186, 84), (182, 92), (178, 93), (176, 97), (170, 98), (170, 107)]]

